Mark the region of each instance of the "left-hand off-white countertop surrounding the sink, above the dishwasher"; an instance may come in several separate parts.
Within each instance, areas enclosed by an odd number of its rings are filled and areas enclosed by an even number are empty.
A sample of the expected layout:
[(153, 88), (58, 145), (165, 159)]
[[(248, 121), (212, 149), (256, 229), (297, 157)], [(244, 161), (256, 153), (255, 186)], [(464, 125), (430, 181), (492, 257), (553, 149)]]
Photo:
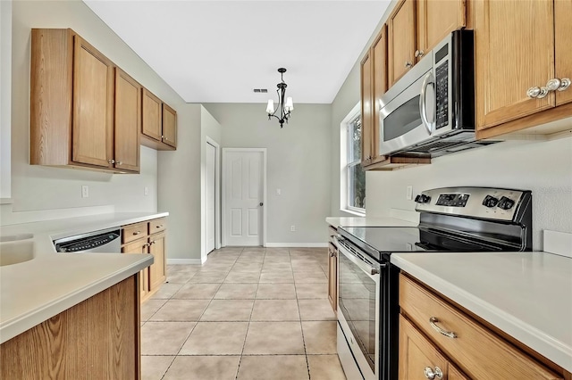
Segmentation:
[(123, 212), (0, 227), (33, 234), (34, 259), (0, 267), (0, 343), (130, 277), (153, 263), (146, 254), (56, 253), (52, 241), (168, 216)]

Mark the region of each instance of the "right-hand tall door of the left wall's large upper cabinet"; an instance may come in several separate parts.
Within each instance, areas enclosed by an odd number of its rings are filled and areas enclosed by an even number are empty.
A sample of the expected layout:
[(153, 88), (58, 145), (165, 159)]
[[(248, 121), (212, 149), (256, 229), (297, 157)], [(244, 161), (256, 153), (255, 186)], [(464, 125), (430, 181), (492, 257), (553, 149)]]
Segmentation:
[(115, 168), (139, 173), (141, 85), (115, 69)]

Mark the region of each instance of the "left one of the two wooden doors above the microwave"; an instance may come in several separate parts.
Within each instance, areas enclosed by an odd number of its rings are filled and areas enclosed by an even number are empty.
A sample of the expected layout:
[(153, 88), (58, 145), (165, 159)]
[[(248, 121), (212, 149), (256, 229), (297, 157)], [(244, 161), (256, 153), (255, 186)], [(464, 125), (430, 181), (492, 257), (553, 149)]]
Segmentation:
[(414, 0), (401, 0), (388, 20), (390, 87), (415, 64), (415, 25)]

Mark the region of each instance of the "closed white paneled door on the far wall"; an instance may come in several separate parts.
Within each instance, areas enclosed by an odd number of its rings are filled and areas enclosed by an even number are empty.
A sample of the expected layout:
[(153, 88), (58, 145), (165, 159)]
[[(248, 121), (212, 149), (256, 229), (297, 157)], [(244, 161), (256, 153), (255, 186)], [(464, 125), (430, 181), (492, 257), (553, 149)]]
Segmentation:
[(223, 150), (224, 242), (262, 245), (264, 152)]

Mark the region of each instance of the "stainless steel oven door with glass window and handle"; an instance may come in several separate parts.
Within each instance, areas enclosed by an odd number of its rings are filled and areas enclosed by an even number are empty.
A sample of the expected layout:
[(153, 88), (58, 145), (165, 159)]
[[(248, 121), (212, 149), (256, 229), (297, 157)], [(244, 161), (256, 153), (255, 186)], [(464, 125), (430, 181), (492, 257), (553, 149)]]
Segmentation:
[(382, 266), (346, 240), (338, 247), (338, 322), (362, 376), (378, 379)]

